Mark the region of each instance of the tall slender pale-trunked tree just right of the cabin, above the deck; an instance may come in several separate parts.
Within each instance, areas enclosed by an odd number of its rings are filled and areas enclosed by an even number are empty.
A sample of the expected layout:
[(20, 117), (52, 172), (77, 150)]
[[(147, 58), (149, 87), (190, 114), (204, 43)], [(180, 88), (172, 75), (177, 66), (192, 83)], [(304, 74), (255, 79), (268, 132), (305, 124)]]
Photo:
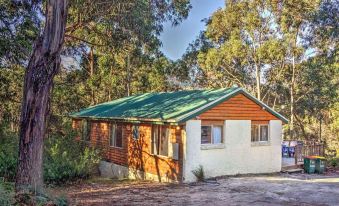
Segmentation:
[(272, 12), (280, 27), (284, 41), (287, 43), (286, 61), (291, 68), (290, 83), (290, 136), (294, 137), (296, 75), (298, 63), (302, 62), (305, 50), (302, 41), (310, 25), (311, 14), (319, 8), (319, 1), (288, 0), (272, 1)]

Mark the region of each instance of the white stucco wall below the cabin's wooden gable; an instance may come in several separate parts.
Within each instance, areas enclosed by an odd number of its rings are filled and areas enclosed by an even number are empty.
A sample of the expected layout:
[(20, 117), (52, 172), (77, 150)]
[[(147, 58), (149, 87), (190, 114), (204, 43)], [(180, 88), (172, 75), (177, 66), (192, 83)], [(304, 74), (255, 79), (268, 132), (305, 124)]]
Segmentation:
[(184, 155), (184, 181), (195, 181), (192, 170), (202, 165), (207, 177), (222, 175), (271, 173), (281, 170), (282, 124), (280, 120), (269, 123), (269, 143), (251, 143), (250, 120), (226, 120), (224, 144), (216, 148), (201, 147), (201, 121), (186, 123)]

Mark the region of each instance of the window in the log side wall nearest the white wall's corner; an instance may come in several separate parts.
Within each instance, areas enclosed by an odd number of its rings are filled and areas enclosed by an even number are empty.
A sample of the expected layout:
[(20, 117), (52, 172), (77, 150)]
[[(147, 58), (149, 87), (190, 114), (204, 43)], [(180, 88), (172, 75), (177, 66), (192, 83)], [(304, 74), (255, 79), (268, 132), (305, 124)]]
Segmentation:
[(170, 129), (166, 126), (152, 127), (152, 154), (168, 156)]

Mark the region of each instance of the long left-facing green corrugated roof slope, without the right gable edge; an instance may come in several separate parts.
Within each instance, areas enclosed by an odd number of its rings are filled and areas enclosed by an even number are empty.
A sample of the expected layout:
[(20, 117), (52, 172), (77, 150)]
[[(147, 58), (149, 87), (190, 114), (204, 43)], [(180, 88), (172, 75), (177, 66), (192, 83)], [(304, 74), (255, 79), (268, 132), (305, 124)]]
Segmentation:
[(237, 88), (145, 93), (98, 104), (72, 117), (174, 120), (213, 102)]

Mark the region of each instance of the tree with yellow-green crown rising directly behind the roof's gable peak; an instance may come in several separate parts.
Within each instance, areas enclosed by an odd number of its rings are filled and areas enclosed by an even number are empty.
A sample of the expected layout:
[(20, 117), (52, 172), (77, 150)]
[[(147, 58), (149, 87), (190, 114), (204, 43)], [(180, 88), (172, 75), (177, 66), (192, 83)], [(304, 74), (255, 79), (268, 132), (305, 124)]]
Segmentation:
[(264, 72), (284, 56), (269, 2), (228, 1), (207, 21), (206, 37), (213, 47), (200, 52), (201, 67), (224, 85), (237, 83), (248, 89), (255, 85), (261, 100)]

